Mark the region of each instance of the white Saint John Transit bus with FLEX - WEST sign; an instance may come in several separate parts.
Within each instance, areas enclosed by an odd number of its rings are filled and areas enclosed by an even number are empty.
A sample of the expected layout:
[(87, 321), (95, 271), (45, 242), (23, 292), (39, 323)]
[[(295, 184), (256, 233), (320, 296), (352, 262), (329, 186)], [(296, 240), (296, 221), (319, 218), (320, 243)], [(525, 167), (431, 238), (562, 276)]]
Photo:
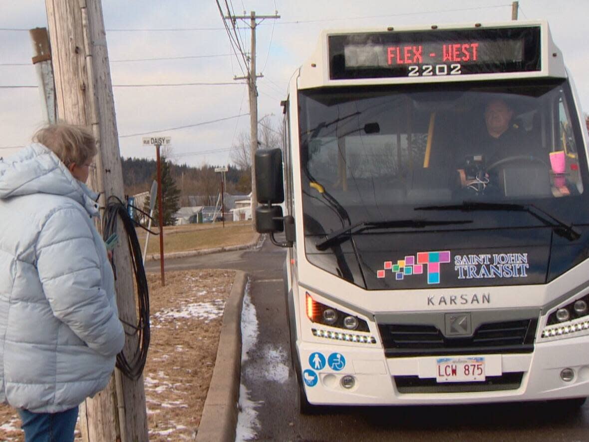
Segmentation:
[(546, 22), (323, 32), (283, 105), (256, 224), (303, 413), (583, 403), (587, 129)]

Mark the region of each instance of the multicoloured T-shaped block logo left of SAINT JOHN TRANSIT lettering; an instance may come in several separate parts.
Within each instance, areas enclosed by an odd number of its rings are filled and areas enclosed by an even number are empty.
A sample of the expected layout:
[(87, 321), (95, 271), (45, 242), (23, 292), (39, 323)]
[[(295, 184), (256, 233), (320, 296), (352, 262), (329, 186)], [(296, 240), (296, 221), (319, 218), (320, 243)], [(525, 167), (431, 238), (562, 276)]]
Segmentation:
[[(422, 275), (425, 270), (428, 273), (428, 284), (440, 283), (440, 264), (450, 262), (450, 252), (417, 252), (415, 255), (405, 256), (396, 264), (385, 261), (384, 269), (376, 271), (376, 278), (385, 278), (386, 271), (395, 273), (395, 280), (399, 281), (405, 276)], [(425, 268), (424, 268), (425, 267)]]

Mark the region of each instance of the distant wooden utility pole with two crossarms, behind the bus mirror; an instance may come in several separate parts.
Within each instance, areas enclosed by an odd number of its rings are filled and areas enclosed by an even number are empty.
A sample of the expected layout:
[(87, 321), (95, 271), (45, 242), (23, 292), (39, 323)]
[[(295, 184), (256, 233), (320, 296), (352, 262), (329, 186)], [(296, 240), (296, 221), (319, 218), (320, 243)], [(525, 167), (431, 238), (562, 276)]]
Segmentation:
[(257, 150), (257, 77), (262, 75), (256, 74), (256, 20), (280, 18), (278, 12), (274, 15), (256, 15), (255, 11), (250, 12), (250, 15), (228, 15), (226, 17), (230, 20), (250, 20), (250, 29), (252, 31), (252, 55), (250, 57), (250, 70), (247, 77), (235, 77), (235, 80), (247, 80), (247, 87), (250, 92), (250, 156), (252, 158), (252, 226), (256, 229), (256, 207), (257, 207), (257, 195), (256, 195), (256, 156)]

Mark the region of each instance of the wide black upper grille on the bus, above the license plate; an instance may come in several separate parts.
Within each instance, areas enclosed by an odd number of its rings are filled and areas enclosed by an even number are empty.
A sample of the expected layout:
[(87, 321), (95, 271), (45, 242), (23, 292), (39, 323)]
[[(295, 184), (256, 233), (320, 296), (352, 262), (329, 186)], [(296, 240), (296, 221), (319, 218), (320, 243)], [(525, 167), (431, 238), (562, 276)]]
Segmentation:
[(379, 324), (386, 357), (531, 353), (538, 319), (481, 324), (470, 337), (448, 338), (434, 325)]

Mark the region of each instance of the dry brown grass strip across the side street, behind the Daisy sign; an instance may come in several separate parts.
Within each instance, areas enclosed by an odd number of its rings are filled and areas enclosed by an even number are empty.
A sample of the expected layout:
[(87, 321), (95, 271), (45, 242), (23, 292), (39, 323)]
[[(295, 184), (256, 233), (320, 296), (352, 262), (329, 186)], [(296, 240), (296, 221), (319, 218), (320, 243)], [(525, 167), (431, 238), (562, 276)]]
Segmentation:
[[(157, 231), (157, 227), (152, 230)], [(137, 236), (143, 250), (145, 230), (137, 229)], [(164, 253), (236, 246), (250, 243), (256, 238), (257, 233), (252, 229), (251, 222), (227, 222), (224, 228), (220, 222), (169, 226), (164, 227)], [(150, 235), (147, 255), (153, 253), (160, 253), (160, 238)]]

